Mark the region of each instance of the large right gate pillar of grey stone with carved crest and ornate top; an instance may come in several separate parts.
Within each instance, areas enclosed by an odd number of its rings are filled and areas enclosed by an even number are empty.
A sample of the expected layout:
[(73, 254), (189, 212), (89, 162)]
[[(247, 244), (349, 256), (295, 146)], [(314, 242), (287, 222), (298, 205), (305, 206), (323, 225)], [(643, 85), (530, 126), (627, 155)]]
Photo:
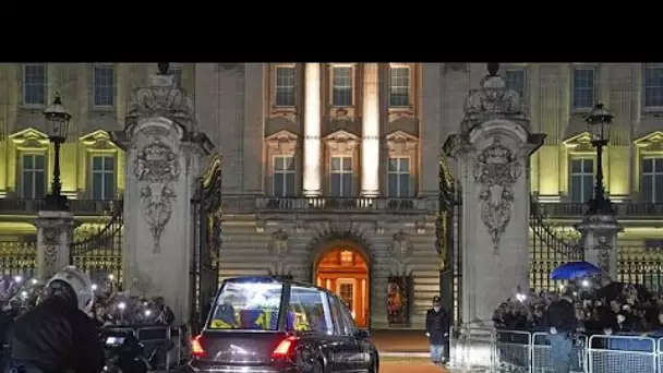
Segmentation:
[(545, 137), (529, 132), (523, 104), (498, 69), (489, 64), (445, 143), (462, 189), (462, 322), (486, 326), (499, 303), (529, 288), (529, 158)]

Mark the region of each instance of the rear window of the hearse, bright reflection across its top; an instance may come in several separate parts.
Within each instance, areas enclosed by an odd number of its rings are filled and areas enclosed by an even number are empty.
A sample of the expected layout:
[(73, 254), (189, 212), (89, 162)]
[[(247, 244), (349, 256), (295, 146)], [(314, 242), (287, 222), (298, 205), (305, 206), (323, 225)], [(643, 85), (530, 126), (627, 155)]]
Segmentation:
[(277, 330), (282, 293), (279, 282), (226, 282), (208, 328)]

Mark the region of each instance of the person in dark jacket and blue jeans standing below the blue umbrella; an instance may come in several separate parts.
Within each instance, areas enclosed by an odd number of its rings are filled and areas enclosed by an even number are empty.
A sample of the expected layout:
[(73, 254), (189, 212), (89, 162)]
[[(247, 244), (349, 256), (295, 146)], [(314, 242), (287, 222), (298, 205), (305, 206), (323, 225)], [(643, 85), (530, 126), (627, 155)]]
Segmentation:
[(568, 373), (571, 369), (574, 353), (574, 333), (577, 320), (571, 290), (551, 303), (545, 314), (544, 325), (551, 342), (551, 361), (553, 372)]

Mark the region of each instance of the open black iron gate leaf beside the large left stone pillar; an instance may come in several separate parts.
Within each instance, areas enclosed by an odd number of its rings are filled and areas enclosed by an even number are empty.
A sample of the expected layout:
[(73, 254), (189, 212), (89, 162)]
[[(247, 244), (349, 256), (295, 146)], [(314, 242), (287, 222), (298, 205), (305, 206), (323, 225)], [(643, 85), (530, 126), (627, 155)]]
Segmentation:
[(221, 246), (221, 157), (216, 155), (201, 178), (193, 206), (193, 261), (191, 269), (191, 325), (198, 333), (205, 323), (219, 284)]

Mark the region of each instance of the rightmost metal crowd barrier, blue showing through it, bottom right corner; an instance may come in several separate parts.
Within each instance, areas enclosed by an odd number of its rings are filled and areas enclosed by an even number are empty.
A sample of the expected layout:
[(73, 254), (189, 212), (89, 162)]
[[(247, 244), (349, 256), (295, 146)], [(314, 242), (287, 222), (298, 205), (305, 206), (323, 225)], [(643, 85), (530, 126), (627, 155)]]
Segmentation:
[(650, 337), (596, 335), (589, 339), (589, 372), (655, 372), (656, 341)]

